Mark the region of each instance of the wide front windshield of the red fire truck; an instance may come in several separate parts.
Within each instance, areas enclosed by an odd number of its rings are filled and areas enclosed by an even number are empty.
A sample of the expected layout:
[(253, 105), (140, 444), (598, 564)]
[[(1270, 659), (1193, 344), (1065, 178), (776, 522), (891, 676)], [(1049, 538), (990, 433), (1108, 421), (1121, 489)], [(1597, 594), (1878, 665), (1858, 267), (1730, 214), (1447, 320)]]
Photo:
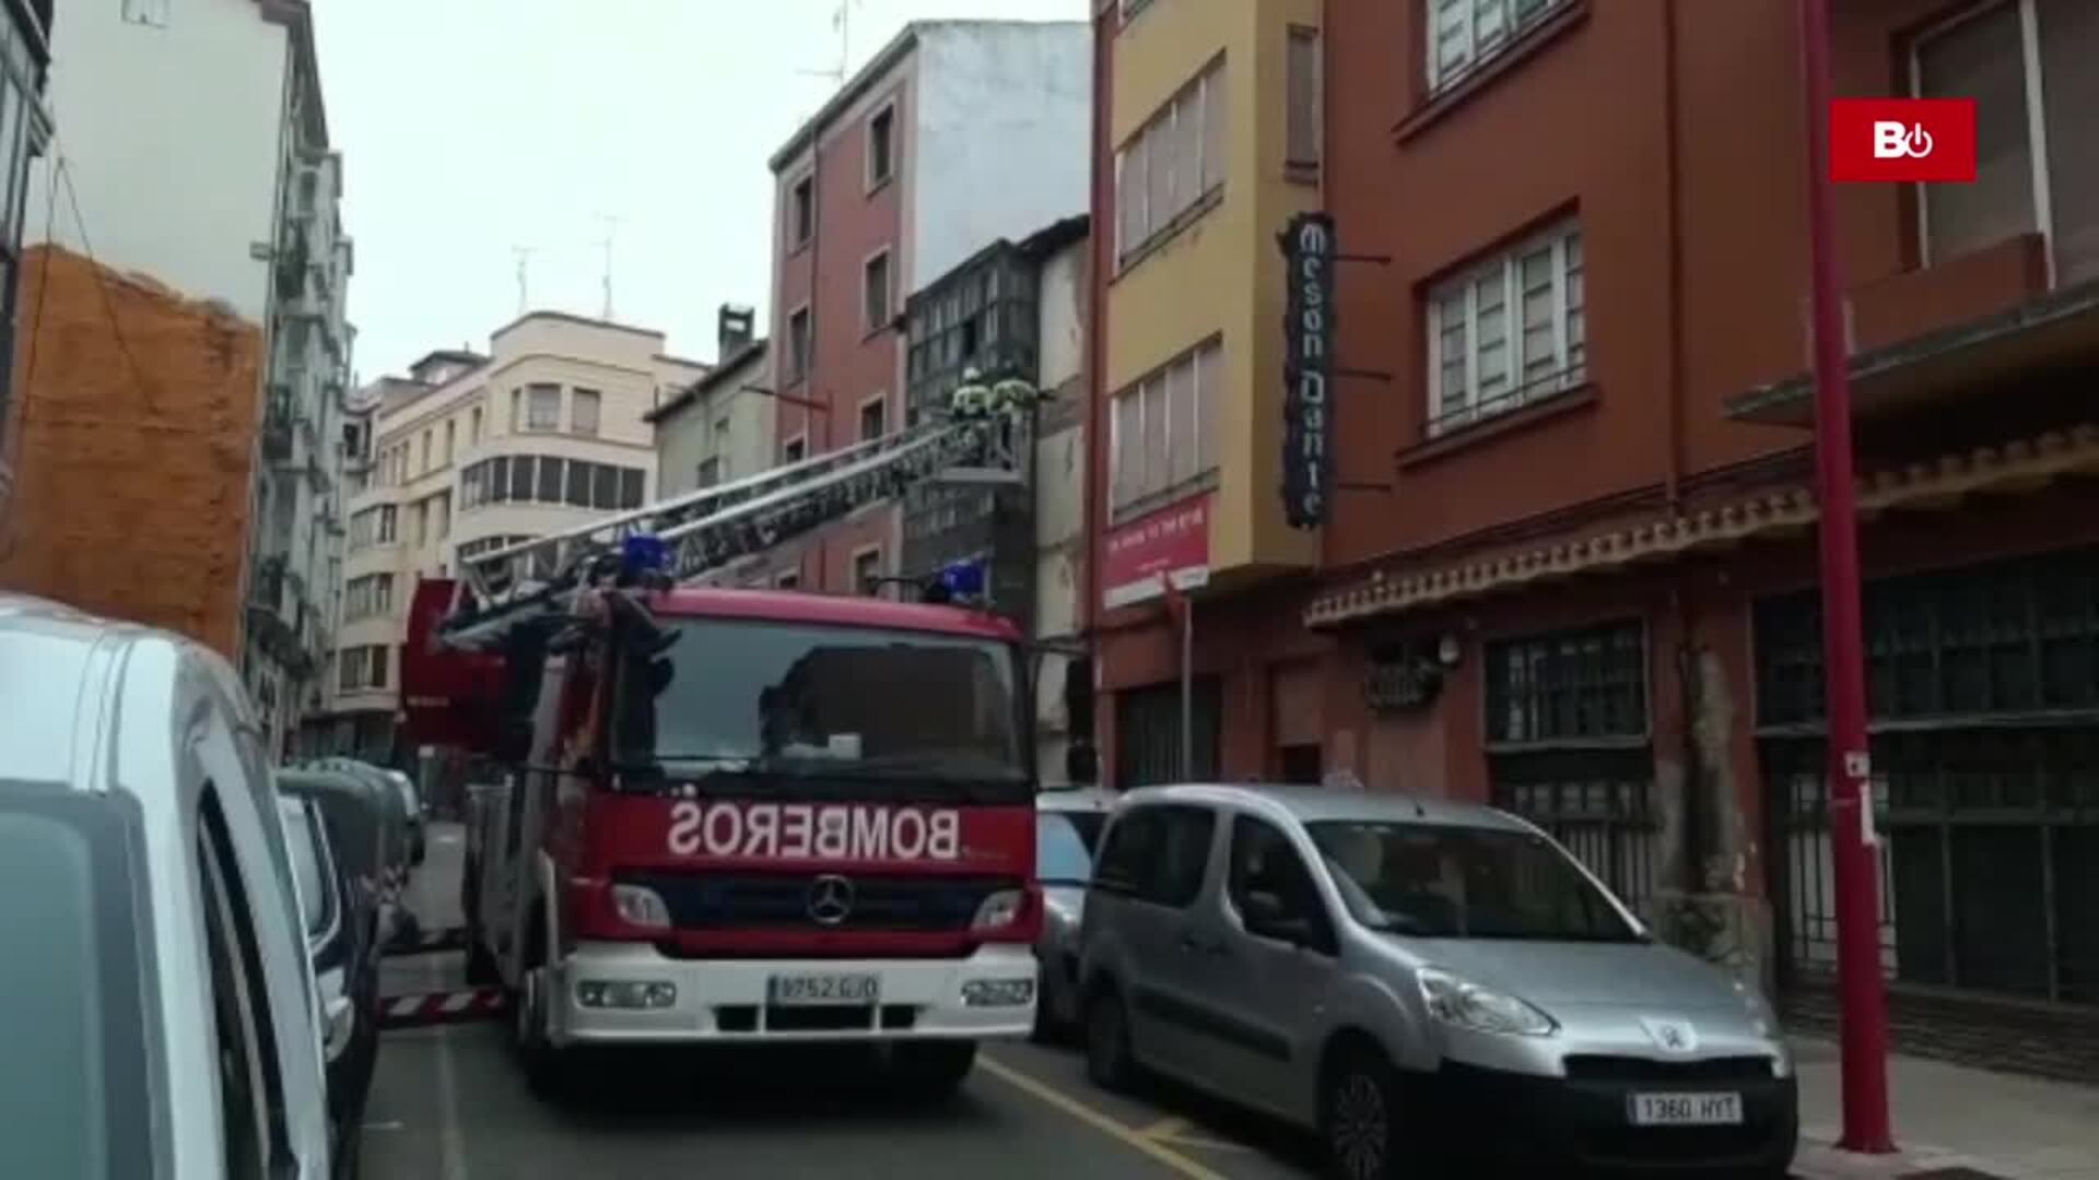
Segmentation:
[(1008, 645), (768, 619), (676, 626), (670, 651), (623, 668), (615, 762), (630, 779), (1029, 781)]

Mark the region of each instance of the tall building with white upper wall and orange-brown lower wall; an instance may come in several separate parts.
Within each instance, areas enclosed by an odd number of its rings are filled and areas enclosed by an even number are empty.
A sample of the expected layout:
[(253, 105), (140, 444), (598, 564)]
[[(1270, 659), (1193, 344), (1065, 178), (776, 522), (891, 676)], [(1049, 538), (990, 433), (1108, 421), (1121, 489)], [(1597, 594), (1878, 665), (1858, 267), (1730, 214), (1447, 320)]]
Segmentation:
[(0, 580), (212, 645), (283, 750), (332, 647), (351, 365), (313, 10), (65, 0), (50, 61)]

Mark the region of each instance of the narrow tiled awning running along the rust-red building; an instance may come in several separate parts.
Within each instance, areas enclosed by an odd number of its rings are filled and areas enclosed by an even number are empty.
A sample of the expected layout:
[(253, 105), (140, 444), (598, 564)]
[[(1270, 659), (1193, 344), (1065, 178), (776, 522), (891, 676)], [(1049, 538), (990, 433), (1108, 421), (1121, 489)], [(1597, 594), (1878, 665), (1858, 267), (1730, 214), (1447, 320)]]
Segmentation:
[[(1860, 512), (1887, 508), (1950, 508), (1979, 491), (2032, 491), (2074, 472), (2099, 472), (2099, 424), (2084, 422), (2032, 439), (1939, 456), (1858, 477)], [(1480, 598), (1503, 590), (1606, 573), (1627, 565), (1673, 561), (1751, 538), (1809, 529), (1820, 510), (1809, 485), (1788, 485), (1690, 514), (1595, 531), (1549, 546), (1520, 548), (1421, 573), (1375, 571), (1366, 580), (1320, 594), (1306, 609), (1308, 628), (1335, 628), (1375, 615), (1396, 615)]]

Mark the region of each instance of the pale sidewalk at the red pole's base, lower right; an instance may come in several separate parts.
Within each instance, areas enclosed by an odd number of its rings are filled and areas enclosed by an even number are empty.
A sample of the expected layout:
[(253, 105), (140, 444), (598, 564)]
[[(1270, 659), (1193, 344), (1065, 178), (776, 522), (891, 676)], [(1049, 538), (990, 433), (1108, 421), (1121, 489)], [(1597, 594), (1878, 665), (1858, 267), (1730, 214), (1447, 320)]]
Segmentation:
[[(1895, 1157), (1835, 1151), (1837, 1046), (1795, 1039), (1805, 1180), (2099, 1180), (2099, 1086), (2040, 1081), (1914, 1056), (1889, 1060)], [(1967, 1172), (1963, 1172), (1967, 1170)]]

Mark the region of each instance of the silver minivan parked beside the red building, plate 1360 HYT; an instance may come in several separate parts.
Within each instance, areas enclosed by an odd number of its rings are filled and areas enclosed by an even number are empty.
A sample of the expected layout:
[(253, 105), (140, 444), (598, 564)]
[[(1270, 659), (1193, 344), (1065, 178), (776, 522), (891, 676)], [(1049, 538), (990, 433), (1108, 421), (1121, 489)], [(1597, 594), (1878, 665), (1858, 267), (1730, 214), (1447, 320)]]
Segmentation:
[(1316, 1128), (1350, 1180), (1448, 1153), (1526, 1174), (1793, 1161), (1797, 1083), (1763, 997), (1488, 806), (1129, 792), (1081, 978), (1096, 1083), (1157, 1071)]

